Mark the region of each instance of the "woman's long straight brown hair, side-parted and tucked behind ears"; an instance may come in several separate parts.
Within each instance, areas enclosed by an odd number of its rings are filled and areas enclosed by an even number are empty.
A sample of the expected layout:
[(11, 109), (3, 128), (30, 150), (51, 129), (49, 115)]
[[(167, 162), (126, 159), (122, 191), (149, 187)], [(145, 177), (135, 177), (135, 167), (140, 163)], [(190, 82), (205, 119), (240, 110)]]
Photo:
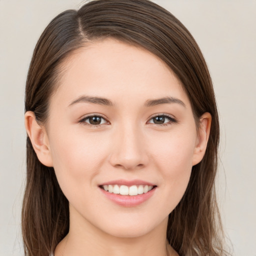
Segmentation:
[[(166, 238), (180, 256), (223, 255), (221, 222), (214, 180), (219, 123), (211, 78), (195, 40), (182, 23), (148, 0), (93, 0), (78, 11), (66, 10), (45, 28), (33, 52), (25, 111), (39, 123), (47, 120), (50, 96), (58, 86), (60, 64), (87, 41), (114, 37), (160, 57), (186, 91), (195, 122), (212, 116), (202, 161), (192, 167), (187, 189), (169, 214)], [(27, 178), (22, 207), (25, 255), (48, 256), (69, 228), (68, 201), (52, 167), (40, 163), (27, 137)]]

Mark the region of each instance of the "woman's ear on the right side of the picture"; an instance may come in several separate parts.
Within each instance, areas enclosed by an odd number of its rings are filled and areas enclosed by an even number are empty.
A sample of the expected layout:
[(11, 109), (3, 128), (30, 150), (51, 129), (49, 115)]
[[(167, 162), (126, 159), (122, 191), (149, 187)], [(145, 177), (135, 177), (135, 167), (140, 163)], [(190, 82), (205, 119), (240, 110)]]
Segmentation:
[(210, 134), (210, 124), (211, 124), (211, 114), (205, 112), (200, 117), (199, 129), (196, 139), (196, 144), (194, 147), (192, 165), (197, 164), (201, 161), (208, 142), (209, 134)]

